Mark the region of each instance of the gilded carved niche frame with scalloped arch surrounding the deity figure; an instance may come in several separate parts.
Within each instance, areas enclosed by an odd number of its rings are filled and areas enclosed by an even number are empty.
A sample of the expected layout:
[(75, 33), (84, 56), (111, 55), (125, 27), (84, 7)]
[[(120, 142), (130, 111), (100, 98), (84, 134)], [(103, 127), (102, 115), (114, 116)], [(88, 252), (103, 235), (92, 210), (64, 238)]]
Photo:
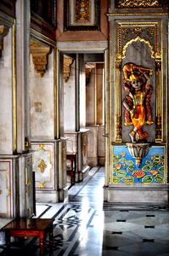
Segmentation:
[[(157, 22), (121, 22), (115, 21), (115, 34), (117, 35), (115, 44), (115, 142), (127, 142), (127, 134), (130, 133), (130, 127), (126, 127), (126, 112), (122, 102), (127, 95), (127, 84), (124, 83), (124, 68), (129, 63), (139, 66), (143, 73), (150, 76), (152, 84), (151, 96), (149, 96), (149, 105), (152, 110), (152, 118), (149, 126), (145, 125), (146, 133), (150, 132), (149, 142), (162, 142), (162, 89), (161, 89), (161, 21)], [(130, 66), (132, 67), (132, 66)], [(145, 78), (144, 78), (145, 80)], [(143, 82), (144, 83), (144, 82)], [(119, 86), (121, 84), (121, 86)], [(150, 130), (149, 130), (150, 129)], [(156, 130), (155, 130), (156, 129)], [(124, 132), (125, 131), (125, 132)], [(144, 133), (145, 134), (145, 133)], [(143, 135), (143, 134), (142, 134)], [(131, 135), (132, 136), (132, 135)], [(131, 137), (130, 136), (130, 137)]]

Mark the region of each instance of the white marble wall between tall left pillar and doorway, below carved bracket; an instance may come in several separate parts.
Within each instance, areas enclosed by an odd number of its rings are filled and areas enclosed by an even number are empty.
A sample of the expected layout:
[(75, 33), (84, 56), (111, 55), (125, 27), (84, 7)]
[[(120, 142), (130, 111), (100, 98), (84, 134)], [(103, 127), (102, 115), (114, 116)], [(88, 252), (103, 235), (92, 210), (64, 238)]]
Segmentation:
[(34, 69), (31, 56), (31, 139), (54, 139), (54, 50), (42, 77)]

